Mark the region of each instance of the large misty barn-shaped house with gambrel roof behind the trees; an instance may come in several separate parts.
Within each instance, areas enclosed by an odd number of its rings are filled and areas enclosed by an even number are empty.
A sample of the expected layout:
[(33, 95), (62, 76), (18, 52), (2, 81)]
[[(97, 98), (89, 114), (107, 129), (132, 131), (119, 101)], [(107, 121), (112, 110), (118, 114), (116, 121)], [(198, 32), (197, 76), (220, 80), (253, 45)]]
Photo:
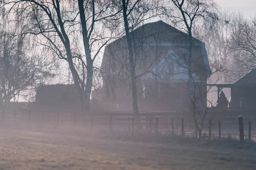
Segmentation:
[[(191, 107), (188, 90), (188, 35), (159, 20), (130, 32), (137, 76), (140, 111), (186, 111)], [(192, 77), (200, 107), (207, 105), (210, 74), (205, 45), (192, 38)], [(132, 111), (131, 77), (125, 37), (105, 47), (102, 89), (93, 99), (112, 103), (113, 108)]]

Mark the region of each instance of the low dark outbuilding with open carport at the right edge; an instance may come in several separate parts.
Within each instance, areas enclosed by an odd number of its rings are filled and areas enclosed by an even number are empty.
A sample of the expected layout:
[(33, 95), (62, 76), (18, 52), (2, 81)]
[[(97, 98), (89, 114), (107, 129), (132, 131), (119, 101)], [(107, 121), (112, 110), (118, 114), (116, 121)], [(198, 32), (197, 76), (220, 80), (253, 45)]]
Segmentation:
[(244, 77), (233, 84), (215, 84), (218, 97), (223, 88), (230, 88), (230, 108), (256, 108), (256, 69), (251, 70)]

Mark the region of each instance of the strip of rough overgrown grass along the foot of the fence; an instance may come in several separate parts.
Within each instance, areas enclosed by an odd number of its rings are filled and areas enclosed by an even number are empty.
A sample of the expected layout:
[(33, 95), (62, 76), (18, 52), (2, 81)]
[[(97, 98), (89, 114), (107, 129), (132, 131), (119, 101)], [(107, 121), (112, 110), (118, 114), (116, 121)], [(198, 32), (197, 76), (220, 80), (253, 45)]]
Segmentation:
[(98, 139), (108, 139), (115, 141), (129, 141), (129, 142), (142, 142), (142, 143), (158, 143), (158, 144), (179, 144), (183, 146), (199, 146), (199, 147), (221, 147), (221, 148), (230, 148), (230, 149), (243, 149), (243, 150), (255, 150), (256, 143), (248, 142), (245, 140), (243, 144), (236, 138), (232, 138), (229, 135), (227, 138), (222, 138), (221, 140), (213, 138), (212, 140), (208, 140), (208, 136), (202, 136), (199, 141), (195, 137), (184, 136), (175, 134), (172, 136), (172, 133), (165, 133), (164, 135), (158, 133), (157, 137), (154, 132), (149, 133), (148, 130), (134, 130), (132, 133), (128, 130), (113, 130), (109, 131), (108, 126), (102, 128), (92, 129), (90, 126), (77, 126), (70, 124), (61, 124), (59, 126), (47, 125), (46, 123), (41, 124), (27, 124), (27, 122), (22, 124), (15, 124), (15, 122), (2, 122), (0, 123), (1, 129), (15, 129), (15, 130), (29, 130), (41, 133), (52, 133), (52, 134), (63, 134), (70, 136), (81, 136), (81, 137), (95, 137)]

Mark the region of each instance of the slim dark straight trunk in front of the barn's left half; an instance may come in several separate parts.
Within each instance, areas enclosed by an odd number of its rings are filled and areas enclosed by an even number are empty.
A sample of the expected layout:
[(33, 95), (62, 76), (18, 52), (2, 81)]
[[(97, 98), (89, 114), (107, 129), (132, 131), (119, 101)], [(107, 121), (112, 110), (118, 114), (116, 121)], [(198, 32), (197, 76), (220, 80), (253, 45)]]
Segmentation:
[(129, 62), (130, 62), (130, 68), (131, 68), (132, 106), (133, 106), (133, 111), (135, 113), (135, 117), (139, 118), (134, 56), (133, 56), (133, 50), (132, 50), (131, 37), (129, 34), (129, 26), (128, 26), (128, 19), (127, 19), (127, 7), (126, 7), (125, 0), (122, 0), (122, 7), (123, 7), (123, 18), (124, 18), (124, 24), (125, 24), (125, 35), (126, 35), (126, 40), (128, 43)]

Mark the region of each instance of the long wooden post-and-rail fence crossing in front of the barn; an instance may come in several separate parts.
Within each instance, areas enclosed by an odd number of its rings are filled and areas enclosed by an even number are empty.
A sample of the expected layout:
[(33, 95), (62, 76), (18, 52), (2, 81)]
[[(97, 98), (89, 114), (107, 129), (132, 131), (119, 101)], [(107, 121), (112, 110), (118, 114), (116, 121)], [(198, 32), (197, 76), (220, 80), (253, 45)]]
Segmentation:
[[(256, 119), (253, 119), (251, 114), (243, 113), (243, 119), (240, 120), (238, 114), (227, 113), (225, 116), (209, 113), (208, 121), (203, 125), (203, 137), (221, 139), (231, 136), (242, 142), (244, 139), (256, 140), (256, 126), (253, 126), (256, 125)], [(151, 135), (198, 137), (198, 129), (195, 128), (192, 114), (187, 112), (146, 112), (140, 113), (137, 118), (134, 113), (92, 113), (90, 116), (85, 116), (72, 111), (3, 110), (2, 121), (12, 120), (16, 124), (18, 121), (23, 121), (28, 125), (37, 122), (58, 127), (60, 124), (69, 123), (74, 126), (88, 126), (90, 129), (102, 127), (110, 131), (127, 130), (131, 133), (139, 130), (137, 125), (140, 122), (140, 130)]]

